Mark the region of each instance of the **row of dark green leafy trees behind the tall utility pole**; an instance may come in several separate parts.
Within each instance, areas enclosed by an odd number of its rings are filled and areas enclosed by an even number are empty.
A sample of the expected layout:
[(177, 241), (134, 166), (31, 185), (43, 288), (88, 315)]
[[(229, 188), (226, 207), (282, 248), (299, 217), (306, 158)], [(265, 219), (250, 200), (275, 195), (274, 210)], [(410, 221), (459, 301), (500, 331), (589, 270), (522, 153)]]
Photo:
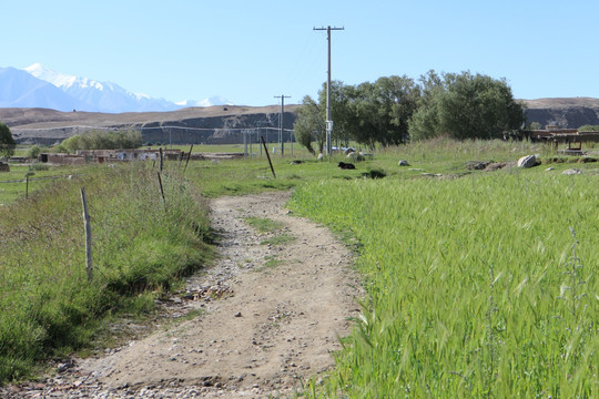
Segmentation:
[[(333, 140), (356, 141), (369, 149), (440, 135), (500, 139), (525, 123), (524, 105), (505, 79), (469, 71), (432, 70), (418, 80), (392, 75), (357, 85), (335, 81), (329, 96)], [(313, 154), (323, 152), (326, 88), (318, 92), (318, 101), (306, 95), (302, 105), (294, 124), (296, 140)]]

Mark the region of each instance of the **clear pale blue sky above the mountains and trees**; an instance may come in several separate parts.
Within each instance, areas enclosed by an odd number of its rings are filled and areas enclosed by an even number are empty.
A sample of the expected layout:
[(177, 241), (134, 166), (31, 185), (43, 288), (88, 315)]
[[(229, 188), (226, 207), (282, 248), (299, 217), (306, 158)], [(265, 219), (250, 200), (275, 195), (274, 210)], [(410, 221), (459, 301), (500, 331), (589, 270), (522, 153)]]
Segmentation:
[[(6, 0), (0, 66), (34, 62), (172, 101), (315, 96), (333, 79), (506, 78), (518, 99), (599, 98), (597, 0)], [(0, 88), (1, 89), (1, 88)]]

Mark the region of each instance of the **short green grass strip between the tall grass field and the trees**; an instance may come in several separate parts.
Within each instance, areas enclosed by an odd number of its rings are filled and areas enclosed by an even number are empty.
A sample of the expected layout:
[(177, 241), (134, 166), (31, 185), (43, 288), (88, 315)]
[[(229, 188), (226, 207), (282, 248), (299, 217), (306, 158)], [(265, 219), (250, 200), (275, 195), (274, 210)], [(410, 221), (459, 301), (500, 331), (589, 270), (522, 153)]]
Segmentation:
[[(527, 154), (540, 154), (546, 160), (557, 156), (549, 146), (542, 144), (502, 141), (456, 142), (438, 139), (406, 146), (380, 149), (374, 153), (373, 160), (356, 163), (356, 170), (353, 171), (342, 171), (337, 167), (339, 161), (346, 161), (342, 154), (335, 154), (332, 158), (324, 161), (316, 161), (315, 157), (307, 154), (294, 157), (286, 154), (284, 157), (272, 156), (276, 178), (273, 177), (265, 156), (219, 163), (193, 162), (189, 164), (186, 175), (205, 196), (217, 197), (288, 190), (321, 180), (361, 180), (370, 177), (373, 171), (376, 171), (377, 174), (384, 173), (386, 176), (383, 180), (420, 178), (423, 173), (455, 177), (477, 175), (487, 172), (468, 171), (466, 168), (468, 161), (517, 161)], [(566, 158), (568, 162), (578, 160), (578, 157)], [(303, 163), (292, 165), (291, 161), (293, 160), (302, 160)], [(408, 161), (410, 166), (399, 167), (397, 165), (399, 160)], [(556, 167), (557, 171), (578, 166), (593, 167), (592, 164), (576, 164), (575, 166), (570, 163), (551, 164), (550, 166)]]

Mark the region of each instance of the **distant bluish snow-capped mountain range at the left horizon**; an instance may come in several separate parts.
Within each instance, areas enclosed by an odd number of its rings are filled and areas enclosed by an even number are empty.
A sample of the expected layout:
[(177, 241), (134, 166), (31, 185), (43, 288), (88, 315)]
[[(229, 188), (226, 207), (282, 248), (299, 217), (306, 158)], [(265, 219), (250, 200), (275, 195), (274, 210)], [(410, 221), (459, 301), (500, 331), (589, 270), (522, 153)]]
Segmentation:
[(3, 108), (51, 108), (59, 111), (120, 113), (173, 111), (185, 106), (223, 104), (230, 104), (230, 102), (219, 96), (179, 103), (153, 99), (145, 94), (130, 92), (112, 82), (55, 72), (40, 63), (34, 63), (24, 70), (0, 68), (0, 106)]

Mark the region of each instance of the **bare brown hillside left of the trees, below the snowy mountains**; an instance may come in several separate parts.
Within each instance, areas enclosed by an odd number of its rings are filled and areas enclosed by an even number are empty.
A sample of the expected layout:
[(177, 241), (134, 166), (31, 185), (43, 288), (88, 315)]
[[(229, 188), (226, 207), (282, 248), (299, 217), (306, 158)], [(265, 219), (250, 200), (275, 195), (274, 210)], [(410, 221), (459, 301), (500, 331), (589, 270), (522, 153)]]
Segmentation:
[[(285, 106), (292, 129), (297, 105)], [(243, 142), (242, 130), (278, 126), (280, 106), (206, 106), (172, 112), (60, 112), (48, 109), (0, 109), (0, 121), (18, 143), (52, 145), (89, 130), (139, 130), (145, 143), (199, 144)]]

